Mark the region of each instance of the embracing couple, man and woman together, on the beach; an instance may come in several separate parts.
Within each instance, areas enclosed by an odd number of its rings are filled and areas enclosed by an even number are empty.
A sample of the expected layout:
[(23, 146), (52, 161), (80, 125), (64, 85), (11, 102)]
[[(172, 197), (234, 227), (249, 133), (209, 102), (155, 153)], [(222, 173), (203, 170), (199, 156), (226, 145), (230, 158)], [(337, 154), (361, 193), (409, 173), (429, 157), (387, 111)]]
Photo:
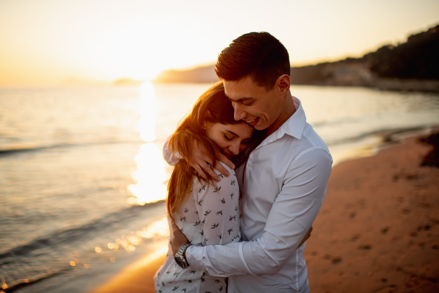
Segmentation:
[(332, 158), (291, 96), (288, 52), (251, 32), (219, 54), (216, 74), (163, 150), (175, 164), (171, 239), (155, 290), (309, 292), (304, 241)]

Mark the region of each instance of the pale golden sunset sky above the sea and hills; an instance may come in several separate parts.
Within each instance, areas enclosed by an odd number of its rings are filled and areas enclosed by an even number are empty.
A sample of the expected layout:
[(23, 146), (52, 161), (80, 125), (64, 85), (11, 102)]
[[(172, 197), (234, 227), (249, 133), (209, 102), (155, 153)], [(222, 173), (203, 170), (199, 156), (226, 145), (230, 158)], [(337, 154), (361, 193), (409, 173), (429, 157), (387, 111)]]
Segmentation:
[(360, 57), (439, 24), (437, 0), (0, 0), (0, 86), (150, 80), (213, 64), (247, 32), (291, 64)]

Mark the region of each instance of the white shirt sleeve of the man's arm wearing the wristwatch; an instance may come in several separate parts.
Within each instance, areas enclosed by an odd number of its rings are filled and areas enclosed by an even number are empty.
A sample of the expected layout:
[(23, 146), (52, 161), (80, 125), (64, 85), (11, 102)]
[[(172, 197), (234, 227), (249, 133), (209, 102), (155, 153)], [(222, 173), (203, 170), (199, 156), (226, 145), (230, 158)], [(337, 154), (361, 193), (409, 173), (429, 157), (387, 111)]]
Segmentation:
[(261, 237), (224, 246), (191, 246), (186, 250), (187, 261), (212, 276), (276, 274), (314, 222), (330, 174), (331, 157), (326, 151), (303, 154), (288, 168)]

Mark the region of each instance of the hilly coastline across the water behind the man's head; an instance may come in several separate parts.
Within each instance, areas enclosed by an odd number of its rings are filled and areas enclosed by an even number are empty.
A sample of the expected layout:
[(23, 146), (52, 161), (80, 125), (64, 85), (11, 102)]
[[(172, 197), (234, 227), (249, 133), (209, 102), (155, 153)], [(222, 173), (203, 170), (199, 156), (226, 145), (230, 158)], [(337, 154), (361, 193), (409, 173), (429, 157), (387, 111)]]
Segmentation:
[[(291, 67), (291, 84), (439, 92), (439, 25), (361, 58)], [(155, 82), (216, 82), (215, 66), (162, 71)]]

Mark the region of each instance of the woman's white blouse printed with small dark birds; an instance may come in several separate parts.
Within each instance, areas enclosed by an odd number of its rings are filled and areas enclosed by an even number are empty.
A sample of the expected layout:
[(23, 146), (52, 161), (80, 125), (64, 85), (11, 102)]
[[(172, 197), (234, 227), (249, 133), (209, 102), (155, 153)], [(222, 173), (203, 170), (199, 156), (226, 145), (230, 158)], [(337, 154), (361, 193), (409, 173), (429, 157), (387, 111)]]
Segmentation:
[[(222, 163), (221, 163), (222, 164)], [(230, 172), (219, 182), (205, 183), (194, 177), (191, 195), (175, 215), (175, 223), (192, 245), (225, 245), (241, 238), (239, 222), (239, 187), (234, 170), (223, 164)], [(174, 261), (172, 251), (166, 256), (165, 264), (158, 269), (155, 290), (165, 292), (225, 292), (223, 277), (212, 277), (197, 268), (181, 268)]]

